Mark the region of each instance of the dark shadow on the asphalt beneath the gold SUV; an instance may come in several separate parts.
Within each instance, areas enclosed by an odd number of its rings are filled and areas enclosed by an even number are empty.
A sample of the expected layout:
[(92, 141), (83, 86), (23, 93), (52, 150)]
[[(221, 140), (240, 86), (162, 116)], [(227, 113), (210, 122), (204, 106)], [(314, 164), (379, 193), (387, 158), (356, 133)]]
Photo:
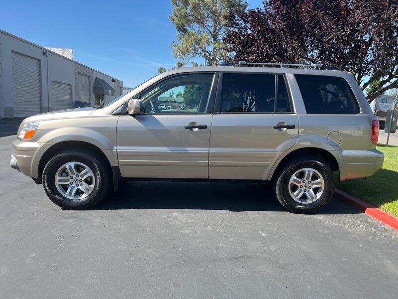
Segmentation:
[[(271, 185), (226, 182), (124, 182), (93, 210), (199, 209), (287, 212), (275, 199)], [(316, 214), (357, 214), (359, 210), (332, 199)]]

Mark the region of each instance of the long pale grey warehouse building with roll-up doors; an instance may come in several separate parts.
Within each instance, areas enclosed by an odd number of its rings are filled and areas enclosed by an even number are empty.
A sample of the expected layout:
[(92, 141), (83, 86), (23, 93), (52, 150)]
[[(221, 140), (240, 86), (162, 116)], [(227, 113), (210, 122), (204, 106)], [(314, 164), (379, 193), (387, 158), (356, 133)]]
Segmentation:
[(0, 30), (0, 118), (107, 104), (123, 82)]

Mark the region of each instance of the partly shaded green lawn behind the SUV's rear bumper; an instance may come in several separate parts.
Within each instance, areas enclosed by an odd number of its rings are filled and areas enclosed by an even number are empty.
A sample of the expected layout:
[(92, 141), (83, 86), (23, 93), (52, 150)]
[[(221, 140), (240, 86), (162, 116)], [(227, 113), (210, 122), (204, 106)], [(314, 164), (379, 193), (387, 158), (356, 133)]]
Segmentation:
[(385, 155), (383, 168), (377, 174), (336, 186), (398, 218), (398, 147), (378, 145), (377, 149)]

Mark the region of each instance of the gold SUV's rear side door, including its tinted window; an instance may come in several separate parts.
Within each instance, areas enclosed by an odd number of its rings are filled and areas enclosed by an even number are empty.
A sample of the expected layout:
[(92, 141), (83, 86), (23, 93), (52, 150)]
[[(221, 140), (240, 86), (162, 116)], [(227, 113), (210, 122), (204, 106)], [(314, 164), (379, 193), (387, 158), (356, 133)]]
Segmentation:
[(298, 138), (284, 75), (220, 74), (211, 128), (209, 178), (266, 180)]

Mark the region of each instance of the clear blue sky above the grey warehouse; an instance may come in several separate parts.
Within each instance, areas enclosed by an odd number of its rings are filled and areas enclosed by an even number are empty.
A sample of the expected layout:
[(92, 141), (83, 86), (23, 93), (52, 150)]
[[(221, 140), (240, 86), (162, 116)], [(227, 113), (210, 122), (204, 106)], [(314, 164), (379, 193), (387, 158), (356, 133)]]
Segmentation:
[[(262, 0), (249, 0), (249, 7)], [(0, 29), (44, 47), (72, 48), (74, 59), (133, 87), (173, 67), (171, 0), (0, 0)]]

